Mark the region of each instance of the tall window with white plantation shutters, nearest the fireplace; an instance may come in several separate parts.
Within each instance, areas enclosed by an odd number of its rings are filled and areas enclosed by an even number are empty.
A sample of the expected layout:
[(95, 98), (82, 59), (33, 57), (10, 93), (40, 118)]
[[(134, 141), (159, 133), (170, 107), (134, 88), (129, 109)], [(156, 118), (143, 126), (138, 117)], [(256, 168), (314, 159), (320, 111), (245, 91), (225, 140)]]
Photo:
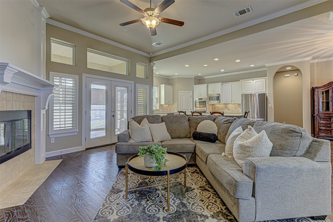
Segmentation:
[(50, 73), (50, 80), (59, 87), (54, 91), (49, 112), (49, 136), (61, 137), (78, 133), (78, 76)]

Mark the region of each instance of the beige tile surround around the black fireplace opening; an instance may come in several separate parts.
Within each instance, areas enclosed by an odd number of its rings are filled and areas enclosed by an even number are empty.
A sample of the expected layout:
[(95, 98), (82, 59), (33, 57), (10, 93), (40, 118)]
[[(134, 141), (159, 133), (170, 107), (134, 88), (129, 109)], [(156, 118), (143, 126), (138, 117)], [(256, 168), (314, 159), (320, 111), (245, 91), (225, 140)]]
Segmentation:
[(35, 97), (1, 91), (0, 111), (31, 110), (31, 149), (0, 165), (0, 192), (35, 165)]

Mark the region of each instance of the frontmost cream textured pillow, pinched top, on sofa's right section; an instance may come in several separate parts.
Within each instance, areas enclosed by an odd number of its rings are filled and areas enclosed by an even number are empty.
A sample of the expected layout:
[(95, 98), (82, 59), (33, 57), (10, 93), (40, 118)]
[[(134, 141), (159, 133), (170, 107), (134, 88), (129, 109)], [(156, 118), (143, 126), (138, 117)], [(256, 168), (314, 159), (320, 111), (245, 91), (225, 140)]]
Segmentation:
[(233, 158), (243, 168), (244, 159), (269, 156), (272, 147), (273, 143), (268, 139), (265, 130), (257, 134), (251, 126), (248, 126), (234, 142)]

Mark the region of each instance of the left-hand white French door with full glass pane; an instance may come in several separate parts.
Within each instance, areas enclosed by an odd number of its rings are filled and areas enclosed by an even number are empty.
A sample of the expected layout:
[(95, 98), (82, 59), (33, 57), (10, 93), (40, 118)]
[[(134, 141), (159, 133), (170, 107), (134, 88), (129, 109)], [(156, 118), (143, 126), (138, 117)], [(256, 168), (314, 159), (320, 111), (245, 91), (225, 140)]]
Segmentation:
[(111, 143), (111, 81), (87, 78), (86, 148)]

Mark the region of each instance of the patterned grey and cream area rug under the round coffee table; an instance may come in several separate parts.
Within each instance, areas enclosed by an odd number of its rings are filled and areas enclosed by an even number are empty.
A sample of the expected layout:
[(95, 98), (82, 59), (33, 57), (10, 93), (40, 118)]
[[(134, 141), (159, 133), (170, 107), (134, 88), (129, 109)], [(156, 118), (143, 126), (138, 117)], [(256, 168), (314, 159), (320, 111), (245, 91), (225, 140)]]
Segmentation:
[[(158, 183), (166, 176), (155, 177)], [(170, 175), (170, 182), (184, 179), (183, 171)], [(129, 189), (154, 185), (149, 176), (129, 170)], [(166, 185), (160, 186), (164, 195)], [(207, 181), (198, 167), (187, 167), (184, 182), (170, 184), (170, 212), (157, 187), (134, 190), (125, 198), (125, 169), (119, 173), (93, 222), (236, 222), (236, 219)], [(269, 222), (314, 222), (310, 218), (294, 218)], [(326, 219), (325, 222), (329, 222)]]

